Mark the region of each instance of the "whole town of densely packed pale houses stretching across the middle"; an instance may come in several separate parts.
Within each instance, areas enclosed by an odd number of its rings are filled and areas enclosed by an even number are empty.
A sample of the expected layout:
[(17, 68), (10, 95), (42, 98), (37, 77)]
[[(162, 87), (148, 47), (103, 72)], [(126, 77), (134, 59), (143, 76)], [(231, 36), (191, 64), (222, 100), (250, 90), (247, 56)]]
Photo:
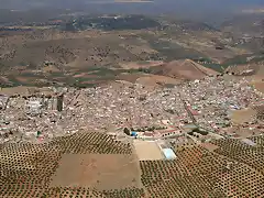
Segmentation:
[(48, 141), (80, 130), (112, 132), (124, 128), (144, 129), (138, 131), (141, 136), (178, 139), (191, 123), (220, 133), (232, 124), (232, 110), (263, 105), (263, 98), (245, 79), (229, 76), (174, 88), (117, 82), (50, 90), (48, 96), (0, 95), (1, 142)]

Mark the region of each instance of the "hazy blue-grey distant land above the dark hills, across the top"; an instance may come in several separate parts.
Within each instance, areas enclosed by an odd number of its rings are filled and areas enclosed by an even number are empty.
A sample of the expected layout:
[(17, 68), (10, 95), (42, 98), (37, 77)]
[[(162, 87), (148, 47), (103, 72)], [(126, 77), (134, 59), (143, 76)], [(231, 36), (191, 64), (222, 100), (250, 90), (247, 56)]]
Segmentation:
[(114, 0), (1, 0), (0, 7), (13, 10), (70, 9), (72, 12), (97, 14), (169, 14), (218, 26), (233, 13), (264, 8), (264, 0), (153, 0), (135, 3), (114, 3)]

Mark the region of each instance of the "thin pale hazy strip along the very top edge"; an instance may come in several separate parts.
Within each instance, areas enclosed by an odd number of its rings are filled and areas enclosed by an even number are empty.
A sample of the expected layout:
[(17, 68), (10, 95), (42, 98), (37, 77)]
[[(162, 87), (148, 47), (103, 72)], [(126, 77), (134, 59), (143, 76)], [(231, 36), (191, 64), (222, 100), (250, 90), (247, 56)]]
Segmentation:
[[(0, 0), (2, 9), (31, 9), (31, 8), (85, 8), (85, 7), (103, 7), (101, 9), (118, 10), (125, 8), (127, 10), (140, 9), (166, 12), (166, 11), (210, 11), (210, 10), (235, 10), (241, 8), (264, 7), (264, 0), (153, 0), (150, 3), (112, 3), (109, 4), (91, 4), (92, 2), (105, 1), (113, 2), (114, 0)], [(108, 7), (108, 8), (107, 8)], [(131, 9), (130, 9), (130, 8)], [(153, 10), (155, 9), (155, 10)]]

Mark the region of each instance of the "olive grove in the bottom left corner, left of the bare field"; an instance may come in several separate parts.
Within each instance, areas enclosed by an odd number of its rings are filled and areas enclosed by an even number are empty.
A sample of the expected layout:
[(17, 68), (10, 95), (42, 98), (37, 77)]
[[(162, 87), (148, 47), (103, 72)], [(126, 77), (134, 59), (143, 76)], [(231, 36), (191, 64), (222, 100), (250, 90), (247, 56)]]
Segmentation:
[(54, 146), (7, 144), (0, 148), (0, 197), (41, 197), (57, 168)]

